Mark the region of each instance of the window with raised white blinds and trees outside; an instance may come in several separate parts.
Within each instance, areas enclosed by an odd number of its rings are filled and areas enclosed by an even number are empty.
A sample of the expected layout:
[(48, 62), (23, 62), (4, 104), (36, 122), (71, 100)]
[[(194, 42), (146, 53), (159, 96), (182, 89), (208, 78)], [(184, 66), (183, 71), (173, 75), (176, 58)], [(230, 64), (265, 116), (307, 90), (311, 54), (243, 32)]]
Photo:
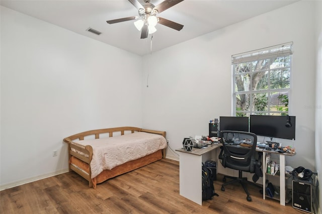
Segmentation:
[(233, 115), (288, 115), (292, 45), (232, 56)]

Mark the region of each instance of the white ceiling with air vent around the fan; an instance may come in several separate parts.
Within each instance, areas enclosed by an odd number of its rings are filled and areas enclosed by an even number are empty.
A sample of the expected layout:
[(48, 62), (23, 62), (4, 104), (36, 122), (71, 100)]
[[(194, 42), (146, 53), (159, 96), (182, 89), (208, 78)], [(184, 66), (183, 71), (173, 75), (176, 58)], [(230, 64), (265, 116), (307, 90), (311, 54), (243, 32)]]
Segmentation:
[[(296, 1), (185, 0), (158, 15), (182, 24), (184, 28), (176, 31), (156, 25), (152, 46), (150, 35), (147, 39), (140, 39), (141, 34), (135, 28), (134, 21), (112, 25), (106, 23), (107, 20), (138, 16), (137, 9), (127, 0), (1, 0), (1, 5), (129, 52), (145, 55), (151, 50), (155, 52), (170, 47)], [(151, 1), (155, 6), (161, 2), (163, 0)], [(90, 27), (102, 34), (98, 36), (88, 32)]]

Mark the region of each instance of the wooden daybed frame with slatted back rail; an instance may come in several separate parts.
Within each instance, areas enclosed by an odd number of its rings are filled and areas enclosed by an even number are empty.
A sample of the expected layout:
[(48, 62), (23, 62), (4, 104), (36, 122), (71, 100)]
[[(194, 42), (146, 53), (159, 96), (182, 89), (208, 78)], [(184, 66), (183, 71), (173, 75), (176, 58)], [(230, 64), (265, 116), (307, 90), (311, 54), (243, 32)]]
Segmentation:
[[(115, 135), (124, 135), (127, 133), (134, 133), (134, 132), (146, 132), (152, 133), (157, 135), (162, 135), (166, 138), (166, 132), (164, 131), (155, 131), (155, 130), (147, 130), (147, 129), (140, 129), (136, 127), (117, 127), (117, 128), (109, 128), (109, 129), (98, 129), (98, 130), (91, 130), (87, 132), (78, 133), (69, 137), (64, 138), (64, 142), (68, 143), (68, 154), (69, 154), (69, 171), (74, 171), (77, 174), (81, 175), (83, 178), (89, 181), (89, 187), (96, 188), (96, 184), (102, 183), (109, 178), (124, 174), (126, 172), (132, 171), (134, 169), (140, 168), (147, 164), (150, 164), (154, 161), (160, 160), (166, 157), (166, 149), (158, 150), (155, 153), (147, 155), (145, 157), (139, 158), (137, 160), (129, 161), (117, 167), (114, 167), (111, 170), (104, 170), (100, 173), (97, 177), (91, 178), (91, 167), (90, 163), (93, 157), (93, 148), (90, 145), (83, 146), (77, 144), (77, 142), (72, 142), (73, 140), (84, 140), (85, 137), (95, 136), (95, 139), (99, 139), (101, 134), (107, 134), (108, 137), (113, 137), (113, 133)], [(84, 153), (85, 155), (81, 155), (77, 152), (72, 151), (71, 149), (77, 150), (79, 152)], [(77, 163), (77, 167), (71, 164)], [(85, 173), (86, 171), (87, 173)]]

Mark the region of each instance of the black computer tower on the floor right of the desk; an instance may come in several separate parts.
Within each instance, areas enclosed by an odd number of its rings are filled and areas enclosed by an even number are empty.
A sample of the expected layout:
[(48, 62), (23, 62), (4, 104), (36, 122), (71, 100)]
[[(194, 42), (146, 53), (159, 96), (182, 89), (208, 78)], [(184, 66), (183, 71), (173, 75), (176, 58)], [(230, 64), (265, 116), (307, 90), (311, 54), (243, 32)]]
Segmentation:
[(292, 182), (292, 206), (309, 213), (314, 213), (312, 202), (313, 190), (311, 178), (307, 180), (294, 178)]

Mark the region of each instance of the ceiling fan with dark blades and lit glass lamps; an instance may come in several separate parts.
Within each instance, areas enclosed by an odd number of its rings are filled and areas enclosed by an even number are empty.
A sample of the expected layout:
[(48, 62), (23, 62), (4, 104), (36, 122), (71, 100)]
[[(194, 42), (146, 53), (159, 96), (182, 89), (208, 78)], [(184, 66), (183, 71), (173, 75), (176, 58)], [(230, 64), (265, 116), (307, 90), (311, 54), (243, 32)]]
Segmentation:
[(183, 25), (161, 17), (156, 17), (156, 15), (177, 5), (178, 3), (181, 3), (184, 0), (166, 0), (157, 6), (151, 4), (150, 0), (144, 0), (144, 2), (142, 3), (139, 2), (140, 0), (128, 1), (138, 9), (139, 16), (109, 20), (106, 21), (108, 24), (136, 20), (134, 22), (134, 25), (139, 31), (141, 31), (141, 39), (145, 39), (147, 38), (148, 34), (154, 33), (156, 31), (155, 25), (157, 23), (175, 29), (177, 31), (180, 31), (183, 28)]

